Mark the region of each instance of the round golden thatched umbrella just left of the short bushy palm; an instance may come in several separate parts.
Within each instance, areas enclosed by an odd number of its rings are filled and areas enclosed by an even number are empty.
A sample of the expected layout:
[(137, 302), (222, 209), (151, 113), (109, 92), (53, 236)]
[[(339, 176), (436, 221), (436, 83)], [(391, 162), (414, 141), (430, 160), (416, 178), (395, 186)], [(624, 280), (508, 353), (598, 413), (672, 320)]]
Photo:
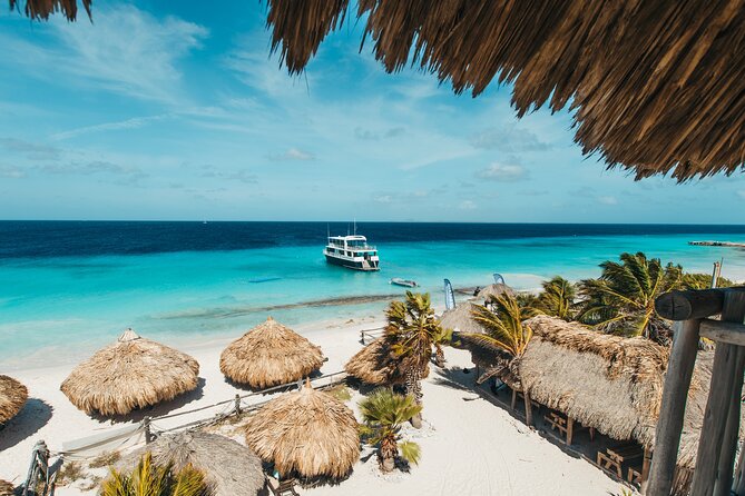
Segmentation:
[(246, 426), (246, 443), (283, 477), (345, 477), (360, 457), (354, 414), (310, 383), (264, 405)]

